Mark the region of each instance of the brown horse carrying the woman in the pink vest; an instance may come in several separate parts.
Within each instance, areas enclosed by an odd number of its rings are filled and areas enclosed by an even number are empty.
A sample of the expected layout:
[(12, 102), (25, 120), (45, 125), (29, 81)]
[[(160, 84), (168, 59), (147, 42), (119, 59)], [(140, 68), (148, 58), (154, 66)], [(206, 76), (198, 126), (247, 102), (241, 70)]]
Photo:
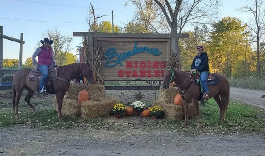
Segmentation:
[[(34, 74), (38, 73), (38, 76)], [(87, 63), (73, 63), (64, 66), (58, 67), (49, 67), (49, 75), (47, 78), (47, 90), (48, 94), (55, 94), (58, 106), (58, 117), (62, 115), (62, 102), (66, 91), (68, 90), (70, 81), (74, 78), (78, 77), (80, 74), (85, 76), (90, 84), (94, 81), (94, 75), (92, 66)], [(27, 96), (25, 97), (25, 101), (35, 112), (35, 108), (30, 103), (30, 99), (32, 98), (34, 92), (39, 92), (39, 80), (41, 78), (41, 74), (37, 70), (32, 70), (30, 68), (24, 68), (17, 71), (12, 80), (12, 99), (13, 99), (13, 112), (18, 118), (18, 103), (20, 100), (20, 96), (22, 91), (26, 89), (28, 91)], [(38, 81), (36, 81), (38, 78)], [(38, 84), (38, 85), (36, 85)], [(47, 89), (46, 88), (46, 89)]]

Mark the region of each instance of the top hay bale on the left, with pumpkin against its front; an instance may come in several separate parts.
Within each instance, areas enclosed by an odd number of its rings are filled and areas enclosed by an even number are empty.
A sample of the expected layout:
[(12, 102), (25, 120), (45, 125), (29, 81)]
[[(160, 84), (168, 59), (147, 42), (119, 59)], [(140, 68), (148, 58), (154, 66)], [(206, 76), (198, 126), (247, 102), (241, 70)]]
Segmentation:
[(76, 83), (70, 83), (65, 98), (77, 100), (77, 96), (81, 90), (88, 91), (89, 100), (92, 101), (100, 101), (100, 99), (105, 97), (104, 85), (81, 85)]

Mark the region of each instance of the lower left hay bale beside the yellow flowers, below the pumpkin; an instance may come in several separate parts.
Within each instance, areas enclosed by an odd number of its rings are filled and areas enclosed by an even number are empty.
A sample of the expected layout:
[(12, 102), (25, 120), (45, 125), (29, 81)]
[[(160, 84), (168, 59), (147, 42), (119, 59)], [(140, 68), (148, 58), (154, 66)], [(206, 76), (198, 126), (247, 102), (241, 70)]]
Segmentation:
[(110, 109), (118, 102), (115, 97), (104, 97), (100, 101), (84, 101), (81, 103), (81, 116), (83, 118), (107, 116), (110, 114)]

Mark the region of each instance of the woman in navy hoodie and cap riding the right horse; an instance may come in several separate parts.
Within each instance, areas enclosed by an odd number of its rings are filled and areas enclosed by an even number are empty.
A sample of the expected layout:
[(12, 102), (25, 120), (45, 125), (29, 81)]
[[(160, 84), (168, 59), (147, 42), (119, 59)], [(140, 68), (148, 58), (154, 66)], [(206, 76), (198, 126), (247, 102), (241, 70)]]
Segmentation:
[(200, 81), (204, 90), (203, 99), (209, 100), (209, 89), (207, 85), (207, 77), (209, 74), (209, 63), (206, 52), (203, 52), (203, 46), (197, 46), (197, 56), (193, 59), (190, 72), (200, 72)]

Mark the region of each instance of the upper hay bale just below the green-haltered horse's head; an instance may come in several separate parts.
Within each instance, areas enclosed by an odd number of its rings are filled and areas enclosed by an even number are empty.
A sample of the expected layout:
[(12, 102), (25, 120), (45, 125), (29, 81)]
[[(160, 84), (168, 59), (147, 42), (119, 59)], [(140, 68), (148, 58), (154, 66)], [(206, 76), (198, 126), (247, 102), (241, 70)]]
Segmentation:
[(160, 101), (163, 103), (172, 104), (174, 103), (175, 96), (179, 93), (177, 87), (169, 86), (166, 90), (164, 88), (160, 88)]

